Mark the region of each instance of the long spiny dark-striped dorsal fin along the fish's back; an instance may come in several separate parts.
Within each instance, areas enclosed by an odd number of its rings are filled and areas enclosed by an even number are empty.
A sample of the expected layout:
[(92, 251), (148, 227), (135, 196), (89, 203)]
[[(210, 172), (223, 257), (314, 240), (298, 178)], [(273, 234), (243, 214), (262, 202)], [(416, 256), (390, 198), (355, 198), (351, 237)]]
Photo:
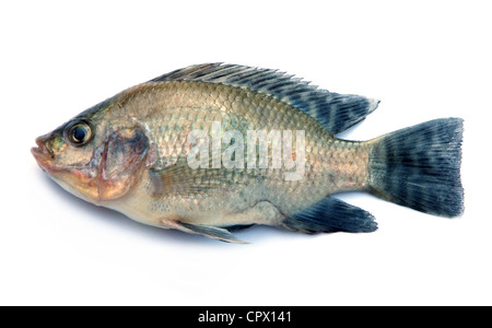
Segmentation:
[(269, 94), (313, 116), (331, 134), (360, 122), (379, 104), (364, 96), (328, 92), (278, 70), (220, 62), (190, 66), (149, 82), (164, 81), (222, 83)]

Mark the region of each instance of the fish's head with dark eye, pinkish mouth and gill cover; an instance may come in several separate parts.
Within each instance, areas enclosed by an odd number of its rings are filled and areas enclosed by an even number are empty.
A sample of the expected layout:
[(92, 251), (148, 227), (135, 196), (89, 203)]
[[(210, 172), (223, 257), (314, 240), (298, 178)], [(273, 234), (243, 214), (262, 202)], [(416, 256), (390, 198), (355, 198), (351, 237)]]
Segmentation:
[(96, 204), (128, 194), (149, 148), (138, 127), (80, 116), (38, 137), (36, 144), (31, 152), (43, 171), (67, 191)]

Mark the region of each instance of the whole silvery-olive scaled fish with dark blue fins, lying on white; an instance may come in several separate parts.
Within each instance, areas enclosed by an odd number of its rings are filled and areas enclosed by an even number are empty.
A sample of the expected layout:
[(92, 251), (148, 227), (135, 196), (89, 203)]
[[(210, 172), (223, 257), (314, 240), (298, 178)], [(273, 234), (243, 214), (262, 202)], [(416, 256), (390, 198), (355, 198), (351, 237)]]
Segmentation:
[(253, 225), (368, 233), (367, 211), (333, 195), (362, 191), (424, 213), (464, 212), (461, 118), (366, 140), (336, 136), (379, 101), (295, 75), (194, 65), (82, 112), (32, 148), (77, 197), (143, 224), (244, 243)]

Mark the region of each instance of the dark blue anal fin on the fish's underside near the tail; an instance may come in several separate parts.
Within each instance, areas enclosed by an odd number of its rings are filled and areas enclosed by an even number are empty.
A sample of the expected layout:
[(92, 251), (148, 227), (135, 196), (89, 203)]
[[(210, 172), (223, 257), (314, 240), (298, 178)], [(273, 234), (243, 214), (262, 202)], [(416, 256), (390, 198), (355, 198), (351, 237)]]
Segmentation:
[(306, 234), (373, 232), (374, 216), (358, 207), (327, 197), (282, 221), (281, 227)]

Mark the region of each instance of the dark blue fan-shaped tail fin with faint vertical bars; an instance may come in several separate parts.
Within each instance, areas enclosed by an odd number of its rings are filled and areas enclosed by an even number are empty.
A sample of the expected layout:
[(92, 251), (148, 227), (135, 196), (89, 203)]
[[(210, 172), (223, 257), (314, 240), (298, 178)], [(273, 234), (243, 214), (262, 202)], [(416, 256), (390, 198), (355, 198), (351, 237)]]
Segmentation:
[(370, 191), (436, 215), (462, 213), (462, 119), (443, 118), (372, 140)]

